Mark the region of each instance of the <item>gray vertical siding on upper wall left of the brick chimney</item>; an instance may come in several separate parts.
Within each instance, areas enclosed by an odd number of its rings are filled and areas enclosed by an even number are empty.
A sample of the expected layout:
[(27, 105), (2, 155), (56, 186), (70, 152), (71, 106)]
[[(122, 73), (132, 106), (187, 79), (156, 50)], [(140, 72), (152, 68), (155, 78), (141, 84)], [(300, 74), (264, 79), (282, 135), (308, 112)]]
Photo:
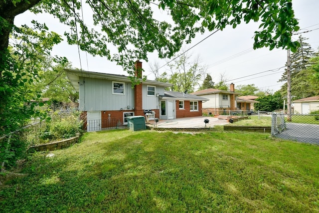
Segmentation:
[(80, 106), (82, 111), (126, 110), (134, 107), (134, 90), (125, 82), (125, 95), (112, 94), (111, 80), (80, 78)]

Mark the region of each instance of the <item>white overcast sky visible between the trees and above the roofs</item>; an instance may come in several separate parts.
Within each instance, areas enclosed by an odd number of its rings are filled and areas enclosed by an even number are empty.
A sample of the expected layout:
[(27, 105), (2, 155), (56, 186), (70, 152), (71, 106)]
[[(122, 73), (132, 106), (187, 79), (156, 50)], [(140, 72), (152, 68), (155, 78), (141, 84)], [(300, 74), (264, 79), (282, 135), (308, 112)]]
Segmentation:
[[(303, 33), (303, 37), (309, 38), (308, 42), (314, 49), (319, 47), (319, 0), (293, 0), (293, 8), (295, 16), (299, 19), (299, 26), (302, 31), (313, 30), (311, 32)], [(65, 30), (68, 30), (64, 25), (61, 25), (57, 19), (54, 19), (48, 14), (34, 15), (30, 12), (24, 12), (15, 18), (15, 24), (30, 24), (32, 19), (38, 20), (40, 23), (45, 22), (50, 30), (63, 35)], [(84, 19), (85, 21), (85, 19)], [(205, 39), (200, 44), (196, 45), (190, 50), (194, 57), (199, 56), (201, 65), (208, 67), (207, 71), (213, 78), (214, 82), (219, 80), (220, 74), (224, 74), (227, 83), (240, 84), (255, 84), (262, 90), (277, 91), (283, 83), (278, 82), (281, 78), (285, 68), (278, 68), (285, 66), (287, 61), (287, 50), (262, 48), (253, 50), (253, 36), (254, 31), (258, 29), (257, 23), (251, 22), (245, 24), (244, 22), (238, 25), (235, 29), (231, 26), (226, 27), (223, 31), (218, 31)], [(306, 30), (306, 29), (307, 30)], [(191, 44), (184, 46), (184, 49), (195, 45), (212, 32), (207, 31), (203, 35), (196, 36)], [(295, 35), (297, 39), (299, 35)], [(65, 39), (66, 40), (66, 39)], [(68, 45), (66, 41), (56, 45), (53, 48), (52, 55), (65, 56), (72, 63), (73, 67), (80, 68), (80, 59), (78, 48), (75, 45)], [(127, 75), (121, 66), (116, 65), (115, 62), (110, 62), (107, 58), (99, 56), (91, 56), (81, 51), (82, 69)], [(158, 62), (160, 66), (166, 64), (170, 59), (159, 59), (155, 53), (149, 54), (149, 63), (143, 62), (145, 69), (144, 75), (148, 79), (153, 80), (154, 75), (150, 72), (150, 63)], [(168, 67), (162, 67), (160, 73), (167, 71)], [(264, 72), (267, 70), (276, 70), (274, 72)], [(261, 74), (253, 75), (255, 73)], [(244, 76), (253, 75), (251, 77)], [(267, 76), (265, 76), (267, 75)], [(241, 78), (241, 79), (237, 79)], [(237, 80), (233, 80), (237, 79)]]

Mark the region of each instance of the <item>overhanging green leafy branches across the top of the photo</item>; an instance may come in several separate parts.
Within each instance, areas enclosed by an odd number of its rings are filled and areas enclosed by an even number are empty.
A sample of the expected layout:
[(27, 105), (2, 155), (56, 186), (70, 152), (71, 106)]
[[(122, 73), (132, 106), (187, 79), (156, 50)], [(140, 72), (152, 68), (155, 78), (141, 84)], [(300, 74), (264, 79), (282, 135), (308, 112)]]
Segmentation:
[[(54, 15), (69, 27), (65, 32), (69, 44), (77, 44), (93, 55), (107, 56), (132, 75), (134, 59), (147, 60), (147, 52), (157, 51), (160, 58), (171, 57), (183, 41), (189, 43), (197, 32), (222, 30), (227, 25), (235, 28), (242, 21), (261, 22), (260, 30), (255, 32), (254, 48), (288, 47), (294, 51), (299, 45), (292, 41), (291, 32), (299, 27), (291, 0), (160, 0), (158, 7), (167, 10), (171, 22), (157, 20), (156, 3), (149, 0), (87, 0), (86, 4), (93, 10), (93, 24), (100, 29), (90, 28), (83, 21), (81, 0), (0, 1), (0, 52), (8, 46), (14, 17), (28, 9)], [(114, 55), (110, 43), (117, 47)]]

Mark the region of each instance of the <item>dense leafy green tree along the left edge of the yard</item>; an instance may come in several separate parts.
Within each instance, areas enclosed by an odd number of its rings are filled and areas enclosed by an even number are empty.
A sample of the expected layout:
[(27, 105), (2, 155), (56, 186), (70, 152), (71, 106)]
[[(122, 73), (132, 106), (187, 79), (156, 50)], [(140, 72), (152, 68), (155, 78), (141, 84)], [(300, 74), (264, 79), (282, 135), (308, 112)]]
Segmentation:
[[(34, 28), (26, 25), (15, 28), (11, 35), (11, 45), (5, 51), (0, 63), (0, 162), (12, 165), (25, 144), (22, 140), (11, 137), (24, 126), (31, 117), (43, 117), (45, 114), (36, 110), (30, 100), (40, 100), (41, 91), (35, 89), (39, 81), (38, 74), (46, 67), (52, 46), (61, 41), (59, 35), (48, 32), (44, 24), (34, 22)], [(2, 55), (3, 56), (3, 55)], [(59, 58), (55, 59), (56, 61)], [(63, 61), (63, 59), (62, 59)], [(30, 103), (28, 105), (27, 103)], [(39, 102), (42, 105), (42, 102)], [(8, 137), (4, 137), (7, 135)], [(18, 152), (18, 150), (20, 150)], [(24, 149), (25, 150), (25, 149)]]

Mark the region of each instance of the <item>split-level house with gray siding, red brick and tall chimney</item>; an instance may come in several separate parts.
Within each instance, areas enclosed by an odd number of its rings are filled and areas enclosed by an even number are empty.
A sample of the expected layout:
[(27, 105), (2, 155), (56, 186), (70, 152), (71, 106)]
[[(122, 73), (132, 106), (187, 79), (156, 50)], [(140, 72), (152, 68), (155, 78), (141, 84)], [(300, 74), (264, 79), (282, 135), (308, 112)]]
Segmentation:
[[(135, 70), (135, 75), (142, 78), (141, 61), (136, 61)], [(150, 120), (201, 115), (202, 99), (196, 102), (193, 96), (190, 99), (167, 97), (164, 89), (172, 86), (169, 83), (141, 79), (141, 83), (132, 88), (130, 79), (125, 75), (81, 70), (65, 72), (76, 91), (79, 91), (79, 110), (87, 119), (88, 131), (126, 125), (127, 117), (144, 116), (144, 110), (153, 112)], [(182, 111), (178, 106), (179, 100), (184, 101), (184, 114), (179, 112)], [(192, 110), (186, 113), (190, 103), (193, 104)]]

